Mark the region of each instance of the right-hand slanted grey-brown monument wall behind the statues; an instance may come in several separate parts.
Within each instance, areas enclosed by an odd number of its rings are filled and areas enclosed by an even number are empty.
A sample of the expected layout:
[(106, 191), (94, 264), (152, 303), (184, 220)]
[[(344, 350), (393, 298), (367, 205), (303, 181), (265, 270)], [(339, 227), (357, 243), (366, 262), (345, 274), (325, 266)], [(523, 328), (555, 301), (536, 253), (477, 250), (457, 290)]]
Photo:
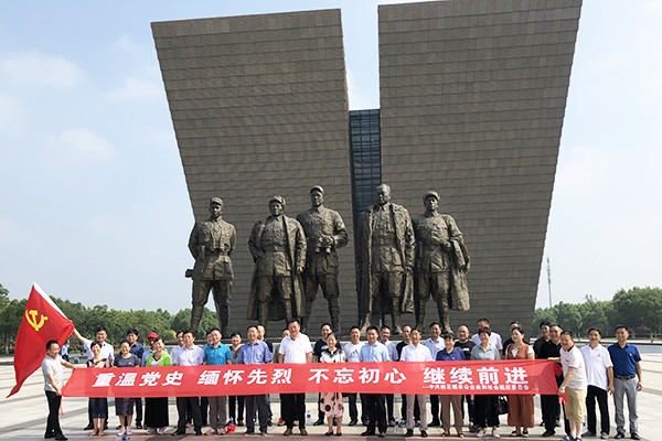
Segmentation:
[(382, 179), (413, 215), (438, 191), (465, 233), (472, 305), (453, 326), (533, 319), (580, 6), (380, 7)]

